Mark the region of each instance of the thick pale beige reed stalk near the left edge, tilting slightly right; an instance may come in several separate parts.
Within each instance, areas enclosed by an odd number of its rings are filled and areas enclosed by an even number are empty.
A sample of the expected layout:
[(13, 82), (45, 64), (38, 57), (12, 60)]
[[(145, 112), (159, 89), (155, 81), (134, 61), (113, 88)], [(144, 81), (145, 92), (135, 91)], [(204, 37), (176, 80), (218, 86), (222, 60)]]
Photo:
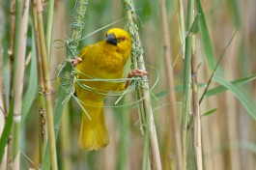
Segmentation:
[[(19, 4), (21, 2), (17, 2)], [(21, 105), (23, 93), (23, 77), (25, 71), (25, 55), (27, 41), (27, 27), (29, 14), (29, 0), (23, 2), (20, 18), (19, 38), (15, 39), (14, 51), (14, 169), (19, 169), (19, 133), (21, 121)]]

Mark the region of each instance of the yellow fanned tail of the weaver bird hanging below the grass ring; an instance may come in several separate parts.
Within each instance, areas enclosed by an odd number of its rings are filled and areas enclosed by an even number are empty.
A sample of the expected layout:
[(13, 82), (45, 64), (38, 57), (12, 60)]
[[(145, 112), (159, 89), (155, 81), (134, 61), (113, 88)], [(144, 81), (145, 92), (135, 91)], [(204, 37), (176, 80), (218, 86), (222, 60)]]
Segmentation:
[(100, 101), (97, 107), (83, 104), (91, 120), (82, 112), (82, 124), (79, 133), (78, 145), (86, 150), (100, 150), (108, 145), (108, 132), (105, 125), (103, 102)]

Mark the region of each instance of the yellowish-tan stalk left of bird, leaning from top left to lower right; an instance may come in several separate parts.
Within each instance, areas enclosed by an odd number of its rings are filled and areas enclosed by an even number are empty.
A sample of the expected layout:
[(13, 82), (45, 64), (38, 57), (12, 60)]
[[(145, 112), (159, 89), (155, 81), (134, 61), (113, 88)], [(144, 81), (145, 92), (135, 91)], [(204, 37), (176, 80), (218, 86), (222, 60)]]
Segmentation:
[(45, 107), (46, 107), (46, 121), (47, 121), (47, 132), (48, 132), (48, 143), (50, 147), (51, 169), (57, 170), (58, 165), (57, 165), (56, 144), (55, 144), (55, 134), (54, 134), (51, 90), (50, 90), (50, 74), (49, 74), (49, 67), (48, 67), (46, 45), (44, 41), (42, 12), (43, 12), (42, 2), (40, 0), (37, 0), (39, 38), (40, 38), (41, 57), (42, 57), (42, 64), (43, 64), (43, 85), (44, 85), (43, 95), (44, 95)]

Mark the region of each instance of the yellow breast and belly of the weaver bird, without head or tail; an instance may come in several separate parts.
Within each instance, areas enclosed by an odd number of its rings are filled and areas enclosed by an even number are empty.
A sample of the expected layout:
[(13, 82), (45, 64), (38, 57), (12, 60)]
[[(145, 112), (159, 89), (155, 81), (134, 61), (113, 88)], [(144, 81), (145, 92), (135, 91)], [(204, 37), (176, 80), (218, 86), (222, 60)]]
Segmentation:
[[(88, 79), (90, 77), (96, 77), (100, 79), (118, 79), (123, 77), (124, 56), (116, 52), (115, 50), (109, 50), (114, 48), (111, 44), (105, 44), (105, 42), (99, 42), (93, 46), (90, 46), (83, 60), (76, 67), (78, 74), (77, 79)], [(92, 100), (101, 100), (108, 91), (115, 91), (118, 89), (120, 83), (106, 82), (106, 81), (81, 81), (82, 84), (92, 88), (92, 91), (85, 90), (76, 85), (76, 95), (81, 99), (90, 97)], [(87, 98), (88, 99), (88, 98)]]

